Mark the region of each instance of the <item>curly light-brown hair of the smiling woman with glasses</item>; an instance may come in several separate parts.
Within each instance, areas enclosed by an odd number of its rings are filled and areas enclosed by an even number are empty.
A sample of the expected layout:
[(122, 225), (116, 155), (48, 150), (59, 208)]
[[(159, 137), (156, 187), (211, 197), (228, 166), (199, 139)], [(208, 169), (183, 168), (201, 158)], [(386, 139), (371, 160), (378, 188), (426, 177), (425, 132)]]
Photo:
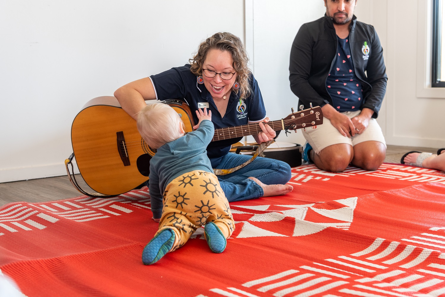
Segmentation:
[[(190, 71), (194, 75), (202, 75), (202, 65), (204, 64), (207, 53), (210, 49), (219, 49), (221, 51), (231, 53), (233, 59), (232, 67), (238, 74), (237, 82), (239, 83), (241, 98), (249, 97), (251, 94), (251, 87), (249, 83), (251, 71), (247, 66), (249, 58), (247, 57), (243, 42), (239, 39), (239, 37), (228, 32), (219, 32), (201, 42), (198, 47), (198, 52), (192, 59), (189, 59), (191, 65)], [(238, 93), (238, 90), (233, 88), (232, 90), (235, 93)]]

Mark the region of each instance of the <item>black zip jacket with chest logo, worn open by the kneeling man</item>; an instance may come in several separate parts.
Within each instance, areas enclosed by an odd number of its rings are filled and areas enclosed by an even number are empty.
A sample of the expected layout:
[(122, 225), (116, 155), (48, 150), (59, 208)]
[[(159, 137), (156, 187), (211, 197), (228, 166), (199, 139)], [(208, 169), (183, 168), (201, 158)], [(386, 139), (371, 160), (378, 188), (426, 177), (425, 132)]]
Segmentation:
[[(377, 118), (388, 80), (379, 37), (373, 26), (353, 16), (349, 42), (354, 71), (363, 86), (364, 100), (360, 110), (364, 107), (374, 110), (372, 117)], [(332, 105), (326, 79), (336, 58), (337, 44), (336, 31), (328, 16), (303, 24), (299, 29), (292, 44), (289, 65), (291, 90), (299, 98), (298, 105), (303, 104), (304, 108), (309, 108), (310, 102), (312, 106)], [(362, 50), (366, 45), (367, 54)]]

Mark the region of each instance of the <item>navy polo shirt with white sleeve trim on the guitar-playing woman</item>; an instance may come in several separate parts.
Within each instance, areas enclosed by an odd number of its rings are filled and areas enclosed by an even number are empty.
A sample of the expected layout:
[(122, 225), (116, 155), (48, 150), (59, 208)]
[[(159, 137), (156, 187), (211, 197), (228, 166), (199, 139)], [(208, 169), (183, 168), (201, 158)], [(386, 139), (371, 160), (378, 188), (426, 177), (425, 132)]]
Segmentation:
[[(240, 99), (240, 91), (238, 91), (238, 94), (232, 91), (223, 118), (205, 85), (198, 84), (197, 76), (190, 72), (190, 64), (174, 67), (152, 75), (150, 78), (153, 81), (156, 99), (160, 101), (168, 99), (185, 100), (190, 106), (195, 123), (198, 123), (198, 117), (195, 113), (195, 110), (198, 110), (198, 102), (209, 103), (215, 129), (246, 125), (248, 121), (257, 122), (266, 117), (263, 97), (253, 75), (250, 76), (251, 95), (248, 98)], [(216, 168), (223, 156), (230, 151), (231, 145), (241, 139), (242, 137), (238, 137), (210, 142), (207, 146), (207, 156), (210, 158), (212, 167)]]

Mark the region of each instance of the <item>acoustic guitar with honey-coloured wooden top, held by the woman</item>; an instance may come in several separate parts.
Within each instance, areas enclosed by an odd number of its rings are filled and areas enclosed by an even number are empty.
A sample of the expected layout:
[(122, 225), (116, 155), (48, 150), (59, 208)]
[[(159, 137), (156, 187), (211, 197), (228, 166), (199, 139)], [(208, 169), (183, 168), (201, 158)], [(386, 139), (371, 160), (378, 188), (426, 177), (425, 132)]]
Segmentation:
[[(164, 103), (178, 112), (186, 132), (193, 130), (194, 120), (185, 102), (174, 99)], [(298, 112), (292, 110), (286, 118), (268, 122), (268, 125), (275, 131), (287, 131), (322, 123), (321, 108), (316, 106)], [(258, 123), (219, 128), (215, 129), (212, 141), (255, 135), (260, 131)], [(136, 121), (121, 108), (115, 97), (97, 97), (87, 102), (74, 118), (71, 141), (82, 178), (94, 191), (120, 195), (148, 180), (150, 159), (156, 151), (147, 145), (138, 132)]]

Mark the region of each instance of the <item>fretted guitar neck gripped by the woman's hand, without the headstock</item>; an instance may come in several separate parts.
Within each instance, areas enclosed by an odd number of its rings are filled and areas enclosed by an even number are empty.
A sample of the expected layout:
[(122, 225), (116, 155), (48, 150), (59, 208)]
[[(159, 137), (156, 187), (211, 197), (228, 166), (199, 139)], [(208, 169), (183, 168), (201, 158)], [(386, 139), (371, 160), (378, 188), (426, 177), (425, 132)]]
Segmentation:
[[(267, 125), (271, 126), (271, 128), (274, 131), (285, 129), (284, 122), (282, 119), (278, 120), (278, 121), (268, 122)], [(215, 129), (215, 134), (212, 138), (212, 141), (224, 140), (224, 139), (228, 139), (228, 138), (243, 137), (243, 136), (247, 136), (247, 135), (257, 135), (261, 131), (262, 130), (261, 130), (261, 127), (259, 126), (259, 123), (241, 125), (241, 126), (235, 126), (235, 127), (219, 128), (219, 129)]]

